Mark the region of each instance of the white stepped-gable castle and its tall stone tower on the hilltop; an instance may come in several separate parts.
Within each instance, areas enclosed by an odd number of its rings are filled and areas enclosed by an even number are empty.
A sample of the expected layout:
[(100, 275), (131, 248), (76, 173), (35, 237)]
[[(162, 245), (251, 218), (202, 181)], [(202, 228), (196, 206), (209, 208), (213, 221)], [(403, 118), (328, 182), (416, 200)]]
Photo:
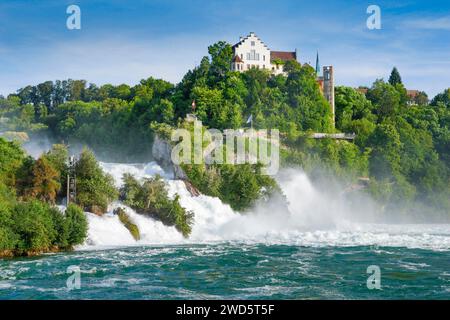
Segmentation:
[[(295, 51), (272, 51), (269, 47), (254, 33), (246, 37), (240, 37), (239, 42), (233, 46), (233, 60), (231, 70), (244, 72), (252, 68), (268, 69), (273, 74), (279, 75), (286, 73), (283, 65), (286, 61), (297, 60), (297, 49)], [(316, 58), (316, 74), (322, 94), (330, 103), (335, 117), (334, 103), (334, 73), (332, 66), (323, 67), (323, 75), (320, 75), (319, 53)]]

